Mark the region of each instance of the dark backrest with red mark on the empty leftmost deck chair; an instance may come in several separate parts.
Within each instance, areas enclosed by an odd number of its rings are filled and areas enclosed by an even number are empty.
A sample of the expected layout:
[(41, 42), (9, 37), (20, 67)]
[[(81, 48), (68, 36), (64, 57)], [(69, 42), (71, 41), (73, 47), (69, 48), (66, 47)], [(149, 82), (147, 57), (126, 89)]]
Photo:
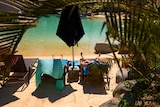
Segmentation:
[(11, 72), (27, 72), (27, 68), (22, 55), (13, 55)]

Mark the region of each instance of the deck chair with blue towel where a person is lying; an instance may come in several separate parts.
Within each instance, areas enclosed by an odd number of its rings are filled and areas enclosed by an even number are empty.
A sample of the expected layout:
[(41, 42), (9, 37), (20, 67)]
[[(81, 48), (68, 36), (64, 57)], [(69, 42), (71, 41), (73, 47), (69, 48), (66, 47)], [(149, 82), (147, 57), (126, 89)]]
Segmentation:
[[(110, 77), (108, 76), (109, 64), (101, 64), (99, 62), (89, 63), (86, 67), (81, 67), (82, 76), (81, 83), (95, 86), (105, 85), (107, 83), (110, 88)], [(104, 81), (106, 79), (106, 82)]]

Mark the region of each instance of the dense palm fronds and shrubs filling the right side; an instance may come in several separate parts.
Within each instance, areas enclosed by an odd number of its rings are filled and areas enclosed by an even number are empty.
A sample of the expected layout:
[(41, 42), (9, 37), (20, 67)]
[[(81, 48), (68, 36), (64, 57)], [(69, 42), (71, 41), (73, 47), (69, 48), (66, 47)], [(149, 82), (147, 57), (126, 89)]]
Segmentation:
[[(121, 106), (138, 106), (138, 104), (142, 106), (151, 99), (158, 103), (160, 99), (158, 94), (160, 91), (160, 14), (156, 3), (149, 0), (111, 1), (107, 2), (104, 8), (109, 9), (109, 14), (106, 13), (105, 23), (108, 28), (107, 40), (109, 41), (109, 37), (118, 40), (121, 52), (127, 48), (127, 54), (130, 57), (124, 61), (130, 68), (130, 79), (138, 81), (131, 92), (127, 93), (128, 97), (134, 100), (124, 101)], [(139, 91), (140, 89), (141, 91)], [(152, 98), (148, 99), (148, 96), (152, 96)]]

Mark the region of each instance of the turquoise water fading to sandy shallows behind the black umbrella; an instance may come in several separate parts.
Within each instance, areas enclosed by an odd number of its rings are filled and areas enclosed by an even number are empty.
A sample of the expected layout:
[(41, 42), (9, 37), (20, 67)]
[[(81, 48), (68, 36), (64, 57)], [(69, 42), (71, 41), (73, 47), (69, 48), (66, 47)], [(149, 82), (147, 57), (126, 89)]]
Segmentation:
[[(72, 48), (68, 47), (57, 35), (59, 15), (48, 15), (38, 20), (36, 27), (28, 29), (20, 44), (18, 50), (24, 57), (32, 56), (69, 56), (72, 55)], [(100, 35), (105, 18), (82, 18), (82, 25), (85, 35), (74, 46), (74, 55), (94, 54), (94, 46), (97, 42), (105, 42), (105, 31)]]

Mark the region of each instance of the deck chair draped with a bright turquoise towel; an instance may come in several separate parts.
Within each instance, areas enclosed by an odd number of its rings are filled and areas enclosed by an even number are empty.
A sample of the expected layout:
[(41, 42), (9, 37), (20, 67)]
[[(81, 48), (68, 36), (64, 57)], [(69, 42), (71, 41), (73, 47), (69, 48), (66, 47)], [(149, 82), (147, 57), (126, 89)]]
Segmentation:
[(60, 59), (39, 59), (36, 69), (36, 86), (41, 84), (43, 75), (48, 75), (56, 80), (56, 89), (62, 90), (65, 85), (65, 71), (63, 66), (66, 60)]

